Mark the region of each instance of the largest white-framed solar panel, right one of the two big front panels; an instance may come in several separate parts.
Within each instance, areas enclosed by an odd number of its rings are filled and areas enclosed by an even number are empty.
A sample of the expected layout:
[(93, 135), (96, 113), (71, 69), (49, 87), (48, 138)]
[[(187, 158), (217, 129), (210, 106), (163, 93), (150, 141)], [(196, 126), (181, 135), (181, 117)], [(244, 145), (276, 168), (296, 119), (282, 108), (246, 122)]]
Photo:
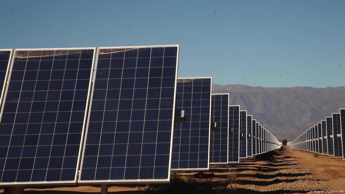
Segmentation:
[(79, 183), (169, 181), (178, 49), (98, 48)]

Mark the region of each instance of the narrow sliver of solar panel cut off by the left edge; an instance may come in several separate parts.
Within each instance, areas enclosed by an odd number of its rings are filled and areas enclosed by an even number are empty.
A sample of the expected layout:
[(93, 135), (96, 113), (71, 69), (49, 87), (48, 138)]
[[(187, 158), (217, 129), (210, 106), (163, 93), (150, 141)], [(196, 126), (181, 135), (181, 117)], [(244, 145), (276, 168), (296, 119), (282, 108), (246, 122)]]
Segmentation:
[(0, 49), (0, 106), (2, 105), (2, 98), (4, 95), (4, 89), (6, 84), (4, 81), (7, 80), (7, 72), (10, 67), (10, 61), (12, 56), (12, 49)]

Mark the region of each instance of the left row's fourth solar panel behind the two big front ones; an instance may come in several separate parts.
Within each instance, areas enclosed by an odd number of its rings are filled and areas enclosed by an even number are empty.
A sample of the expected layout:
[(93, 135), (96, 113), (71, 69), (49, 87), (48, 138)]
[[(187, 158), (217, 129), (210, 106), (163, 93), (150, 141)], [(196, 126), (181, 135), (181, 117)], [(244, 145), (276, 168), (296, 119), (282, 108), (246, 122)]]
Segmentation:
[(239, 112), (239, 157), (247, 157), (247, 111), (242, 110)]

